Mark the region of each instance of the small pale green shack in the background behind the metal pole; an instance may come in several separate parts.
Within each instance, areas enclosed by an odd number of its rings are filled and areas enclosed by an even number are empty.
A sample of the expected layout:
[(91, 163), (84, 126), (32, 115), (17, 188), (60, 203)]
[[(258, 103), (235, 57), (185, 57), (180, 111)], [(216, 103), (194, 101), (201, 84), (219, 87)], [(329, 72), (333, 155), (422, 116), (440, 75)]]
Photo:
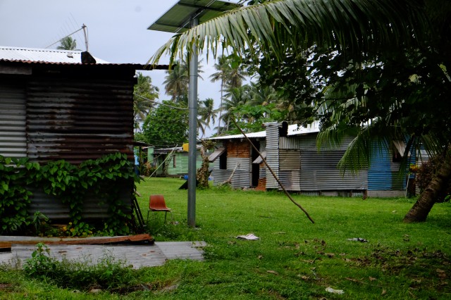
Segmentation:
[[(202, 165), (200, 147), (197, 145), (196, 168)], [(183, 147), (173, 147), (166, 149), (154, 149), (154, 163), (156, 165), (156, 175), (168, 177), (180, 177), (188, 174), (188, 152)]]

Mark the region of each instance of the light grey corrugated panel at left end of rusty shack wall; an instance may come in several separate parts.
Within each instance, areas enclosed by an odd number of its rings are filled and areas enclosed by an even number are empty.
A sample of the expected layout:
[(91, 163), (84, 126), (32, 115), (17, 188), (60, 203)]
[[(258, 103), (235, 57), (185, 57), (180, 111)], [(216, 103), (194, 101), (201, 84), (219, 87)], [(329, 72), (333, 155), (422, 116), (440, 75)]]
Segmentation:
[(0, 82), (0, 155), (27, 156), (25, 135), (25, 87), (16, 82)]

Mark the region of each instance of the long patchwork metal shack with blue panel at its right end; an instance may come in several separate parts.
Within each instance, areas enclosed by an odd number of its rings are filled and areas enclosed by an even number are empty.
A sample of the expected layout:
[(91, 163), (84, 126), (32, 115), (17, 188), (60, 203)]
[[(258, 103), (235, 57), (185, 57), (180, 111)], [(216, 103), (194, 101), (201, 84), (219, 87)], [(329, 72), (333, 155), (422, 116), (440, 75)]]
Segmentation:
[[(400, 163), (393, 161), (399, 157), (398, 146), (386, 147), (374, 159), (369, 170), (360, 170), (344, 176), (337, 168), (352, 137), (347, 137), (338, 149), (318, 151), (316, 136), (319, 126), (311, 127), (266, 123), (266, 130), (249, 133), (273, 172), (291, 192), (309, 195), (342, 196), (400, 196), (405, 191), (405, 180), (397, 176)], [(212, 154), (214, 161), (214, 184), (228, 180), (236, 165), (237, 175), (233, 175), (233, 187), (258, 187), (260, 189), (280, 189), (278, 182), (267, 170), (262, 159), (252, 149), (242, 135), (212, 138), (220, 145)], [(395, 155), (392, 155), (395, 153)]]

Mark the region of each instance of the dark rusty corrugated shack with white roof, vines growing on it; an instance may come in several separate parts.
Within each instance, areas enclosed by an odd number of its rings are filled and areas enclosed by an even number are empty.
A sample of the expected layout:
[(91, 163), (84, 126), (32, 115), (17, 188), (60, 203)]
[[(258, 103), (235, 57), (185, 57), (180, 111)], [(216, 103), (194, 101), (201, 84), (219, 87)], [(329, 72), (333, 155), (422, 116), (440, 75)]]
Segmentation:
[[(133, 86), (137, 64), (94, 58), (81, 51), (0, 47), (0, 154), (46, 163), (81, 163), (121, 152), (133, 161)], [(130, 200), (130, 180), (121, 198)], [(68, 218), (68, 208), (34, 191), (31, 211)], [(108, 216), (99, 199), (85, 201), (85, 218)]]

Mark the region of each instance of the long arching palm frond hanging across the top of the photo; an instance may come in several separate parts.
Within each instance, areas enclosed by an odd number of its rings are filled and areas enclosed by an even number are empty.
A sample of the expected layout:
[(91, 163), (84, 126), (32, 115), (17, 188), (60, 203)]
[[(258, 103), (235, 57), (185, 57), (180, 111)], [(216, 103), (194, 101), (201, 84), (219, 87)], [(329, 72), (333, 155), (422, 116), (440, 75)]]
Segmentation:
[[(412, 41), (426, 23), (416, 0), (275, 0), (229, 11), (173, 36), (156, 51), (149, 63), (158, 63), (165, 53), (171, 63), (186, 49), (197, 46), (207, 54), (219, 46), (238, 53), (254, 46), (273, 51), (282, 58), (286, 49), (299, 46), (338, 45), (347, 51), (367, 51), (375, 47)], [(421, 27), (419, 27), (421, 28)]]

